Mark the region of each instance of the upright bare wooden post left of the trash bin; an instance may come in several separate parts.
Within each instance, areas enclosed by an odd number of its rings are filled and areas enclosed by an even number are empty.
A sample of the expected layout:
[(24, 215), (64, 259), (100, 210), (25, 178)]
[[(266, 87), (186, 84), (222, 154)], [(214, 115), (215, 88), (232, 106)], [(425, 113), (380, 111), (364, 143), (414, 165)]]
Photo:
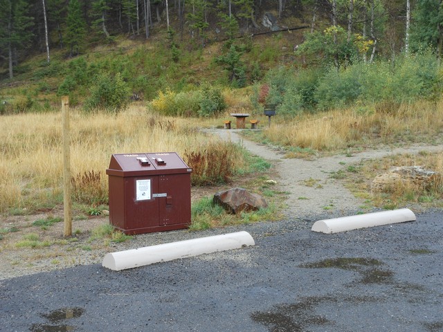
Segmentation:
[(71, 201), (71, 136), (69, 134), (69, 97), (62, 97), (63, 124), (63, 210), (64, 236), (72, 235), (72, 201)]

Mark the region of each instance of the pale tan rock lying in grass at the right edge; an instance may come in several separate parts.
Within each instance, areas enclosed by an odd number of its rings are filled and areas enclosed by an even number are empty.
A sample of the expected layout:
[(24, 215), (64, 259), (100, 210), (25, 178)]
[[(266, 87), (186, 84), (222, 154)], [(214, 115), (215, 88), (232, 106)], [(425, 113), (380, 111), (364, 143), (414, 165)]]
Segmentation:
[(421, 166), (401, 166), (390, 169), (388, 173), (377, 175), (372, 181), (374, 192), (386, 192), (395, 188), (399, 183), (411, 183), (419, 187), (429, 187), (439, 181), (440, 174), (424, 169)]

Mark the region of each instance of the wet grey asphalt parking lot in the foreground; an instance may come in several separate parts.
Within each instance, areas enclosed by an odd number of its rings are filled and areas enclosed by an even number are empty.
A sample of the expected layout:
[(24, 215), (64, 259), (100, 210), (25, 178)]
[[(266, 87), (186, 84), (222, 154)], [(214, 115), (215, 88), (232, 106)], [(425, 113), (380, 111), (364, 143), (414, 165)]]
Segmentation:
[(201, 235), (246, 230), (255, 246), (1, 280), (0, 331), (443, 331), (442, 216), (338, 234), (242, 225)]

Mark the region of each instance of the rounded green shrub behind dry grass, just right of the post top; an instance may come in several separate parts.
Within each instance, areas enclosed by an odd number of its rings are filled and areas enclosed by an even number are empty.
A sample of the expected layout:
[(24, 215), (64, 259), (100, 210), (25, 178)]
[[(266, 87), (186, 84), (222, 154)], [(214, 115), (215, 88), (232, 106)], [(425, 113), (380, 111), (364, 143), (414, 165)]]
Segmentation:
[(120, 73), (99, 75), (96, 83), (91, 86), (91, 95), (84, 103), (86, 111), (107, 111), (118, 113), (126, 109), (131, 93), (129, 86), (122, 79)]

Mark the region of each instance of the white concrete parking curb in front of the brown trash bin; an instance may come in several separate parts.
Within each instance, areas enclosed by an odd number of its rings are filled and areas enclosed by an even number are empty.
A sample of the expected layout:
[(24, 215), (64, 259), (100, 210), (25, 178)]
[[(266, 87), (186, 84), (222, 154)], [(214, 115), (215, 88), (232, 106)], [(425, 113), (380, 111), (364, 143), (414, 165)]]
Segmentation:
[(192, 257), (210, 252), (219, 252), (254, 246), (254, 239), (248, 232), (235, 232), (202, 237), (186, 241), (159, 244), (132, 250), (111, 252), (103, 258), (102, 266), (114, 271), (135, 268), (161, 261), (172, 261), (185, 257)]

